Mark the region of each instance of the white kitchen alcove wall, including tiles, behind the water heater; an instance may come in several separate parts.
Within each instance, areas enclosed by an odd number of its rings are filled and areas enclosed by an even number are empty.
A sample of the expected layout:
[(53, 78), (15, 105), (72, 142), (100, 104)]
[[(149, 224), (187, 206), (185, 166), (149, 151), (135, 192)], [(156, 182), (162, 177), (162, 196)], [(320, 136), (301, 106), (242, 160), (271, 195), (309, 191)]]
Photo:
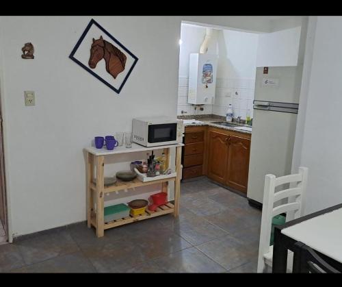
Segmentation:
[[(246, 110), (252, 110), (254, 95), (255, 63), (258, 34), (227, 29), (213, 29), (207, 53), (218, 54), (218, 71), (214, 105), (204, 105), (203, 111), (194, 110), (187, 103), (189, 54), (198, 53), (205, 38), (205, 27), (182, 25), (179, 55), (179, 99), (177, 114), (218, 114), (224, 116), (229, 103), (235, 116), (246, 118)], [(235, 94), (237, 92), (237, 95)]]

